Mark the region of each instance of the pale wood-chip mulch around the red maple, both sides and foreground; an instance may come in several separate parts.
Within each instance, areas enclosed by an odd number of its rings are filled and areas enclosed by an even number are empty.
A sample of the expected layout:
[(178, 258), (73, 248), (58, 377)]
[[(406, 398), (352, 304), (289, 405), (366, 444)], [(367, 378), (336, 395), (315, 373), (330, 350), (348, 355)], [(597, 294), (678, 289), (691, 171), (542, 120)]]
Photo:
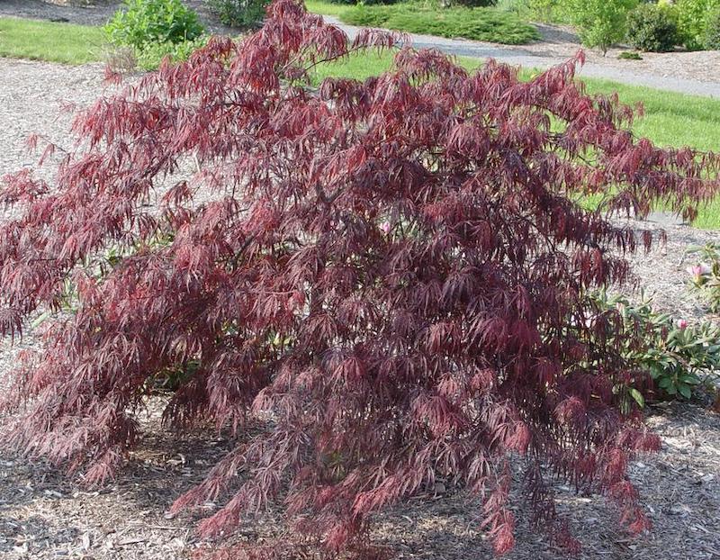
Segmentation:
[[(2, 2), (2, 0), (0, 0)], [(23, 141), (31, 131), (67, 145), (70, 115), (58, 114), (72, 100), (85, 105), (103, 93), (102, 66), (68, 68), (0, 59), (0, 175), (31, 165)], [(52, 175), (52, 162), (42, 174)], [(2, 215), (0, 215), (2, 219)], [(635, 257), (642, 285), (656, 302), (682, 316), (704, 310), (686, 291), (680, 256), (689, 244), (713, 233), (683, 226), (667, 228), (669, 242)], [(715, 236), (716, 237), (716, 236)], [(22, 346), (35, 344), (24, 339)], [(0, 387), (18, 348), (0, 340)], [(88, 491), (44, 464), (0, 452), (0, 557), (3, 560), (181, 560), (207, 546), (193, 534), (194, 523), (217, 507), (166, 519), (179, 493), (202, 479), (221, 456), (228, 439), (200, 434), (177, 438), (159, 426), (163, 402), (148, 405), (145, 436), (130, 465), (109, 486)], [(654, 523), (648, 535), (633, 539), (617, 531), (612, 511), (599, 496), (577, 496), (559, 487), (560, 509), (572, 512), (572, 529), (585, 548), (581, 560), (710, 560), (720, 558), (720, 418), (691, 405), (671, 404), (651, 411), (650, 424), (662, 436), (663, 450), (632, 467)], [(0, 420), (1, 421), (1, 420)], [(511, 560), (560, 559), (543, 537), (522, 521), (518, 503), (518, 546)], [(248, 523), (236, 542), (259, 542), (277, 534), (276, 517)], [(491, 546), (478, 530), (479, 510), (462, 494), (420, 496), (379, 516), (374, 538), (403, 559), (465, 560), (491, 558)]]

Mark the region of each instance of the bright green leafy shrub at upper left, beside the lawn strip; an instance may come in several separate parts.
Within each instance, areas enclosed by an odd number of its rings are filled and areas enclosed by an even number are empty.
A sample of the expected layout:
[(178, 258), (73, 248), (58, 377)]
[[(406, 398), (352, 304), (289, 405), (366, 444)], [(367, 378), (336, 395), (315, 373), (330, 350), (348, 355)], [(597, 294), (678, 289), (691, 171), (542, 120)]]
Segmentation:
[(204, 29), (180, 0), (125, 0), (104, 31), (115, 45), (142, 49), (148, 43), (193, 41)]

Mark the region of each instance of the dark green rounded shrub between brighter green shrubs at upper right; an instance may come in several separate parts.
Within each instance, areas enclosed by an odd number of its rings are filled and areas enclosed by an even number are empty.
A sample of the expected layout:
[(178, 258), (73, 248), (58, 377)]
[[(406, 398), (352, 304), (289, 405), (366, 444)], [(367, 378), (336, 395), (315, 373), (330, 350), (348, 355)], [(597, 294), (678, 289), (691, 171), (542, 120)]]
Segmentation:
[(627, 41), (639, 50), (666, 52), (678, 42), (678, 23), (669, 9), (641, 4), (627, 14)]

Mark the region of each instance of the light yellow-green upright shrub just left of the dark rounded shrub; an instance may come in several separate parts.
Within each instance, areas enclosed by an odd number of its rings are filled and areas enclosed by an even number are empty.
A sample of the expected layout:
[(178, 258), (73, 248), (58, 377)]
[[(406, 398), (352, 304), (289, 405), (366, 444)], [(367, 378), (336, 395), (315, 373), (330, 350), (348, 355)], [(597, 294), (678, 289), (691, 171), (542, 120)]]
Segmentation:
[(605, 54), (625, 37), (627, 13), (637, 0), (569, 0), (568, 5), (582, 44)]

